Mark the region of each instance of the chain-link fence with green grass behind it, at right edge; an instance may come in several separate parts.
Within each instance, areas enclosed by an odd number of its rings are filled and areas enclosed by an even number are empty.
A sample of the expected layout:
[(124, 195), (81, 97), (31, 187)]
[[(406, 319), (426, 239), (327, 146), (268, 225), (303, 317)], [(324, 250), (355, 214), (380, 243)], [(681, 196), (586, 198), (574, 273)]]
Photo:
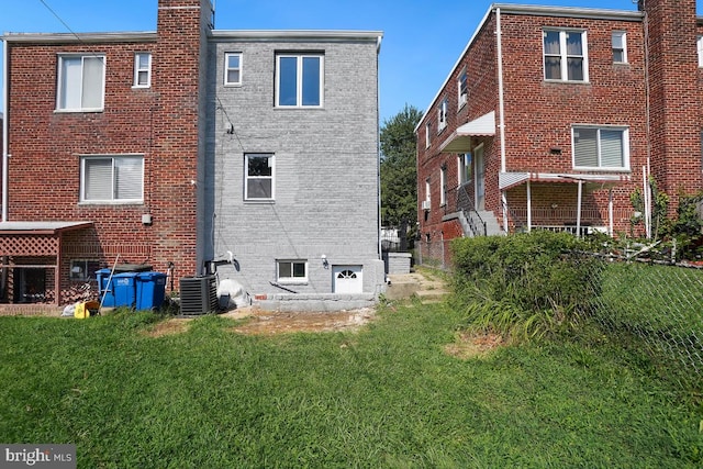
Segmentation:
[(590, 313), (623, 345), (643, 346), (670, 378), (703, 382), (703, 269), (606, 256), (585, 286)]

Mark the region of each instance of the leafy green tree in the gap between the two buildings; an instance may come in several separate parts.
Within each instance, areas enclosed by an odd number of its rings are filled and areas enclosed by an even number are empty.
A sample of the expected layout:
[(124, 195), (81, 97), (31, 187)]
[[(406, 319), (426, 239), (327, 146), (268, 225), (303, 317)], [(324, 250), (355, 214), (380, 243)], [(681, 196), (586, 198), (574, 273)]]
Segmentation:
[(381, 126), (381, 223), (399, 226), (417, 220), (415, 126), (422, 113), (412, 105)]

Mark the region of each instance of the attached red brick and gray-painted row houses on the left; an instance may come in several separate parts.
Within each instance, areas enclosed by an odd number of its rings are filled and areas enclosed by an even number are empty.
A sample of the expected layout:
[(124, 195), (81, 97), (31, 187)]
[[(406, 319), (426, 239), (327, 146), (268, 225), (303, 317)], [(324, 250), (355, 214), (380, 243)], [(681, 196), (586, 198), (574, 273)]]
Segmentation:
[[(272, 286), (281, 279), (310, 293), (333, 292), (337, 270), (319, 272), (323, 254), (335, 266), (358, 270), (359, 279), (365, 269), (355, 292), (378, 293), (383, 280), (382, 271), (377, 278), (382, 263), (375, 248), (378, 191), (376, 179), (366, 176), (378, 166), (377, 91), (371, 91), (377, 90), (381, 34), (244, 37), (215, 31), (213, 18), (210, 0), (158, 0), (155, 32), (2, 36), (2, 163), (9, 183), (0, 223), (0, 301), (71, 302), (78, 287), (115, 260), (169, 272), (178, 289), (180, 278), (208, 271), (209, 261), (226, 250), (241, 270), (223, 270), (221, 278), (245, 276), (239, 280), (253, 289), (252, 297), (281, 291)], [(331, 46), (345, 42), (346, 49)], [(280, 58), (281, 51), (290, 54)], [(339, 68), (348, 58), (342, 54), (361, 55), (362, 66), (353, 71), (365, 77), (369, 100), (355, 102), (354, 96), (337, 92), (348, 83), (337, 86), (330, 77), (350, 71)], [(274, 83), (294, 74), (295, 66), (304, 72), (317, 66), (324, 101), (309, 109), (304, 94), (294, 109), (275, 104)], [(345, 127), (343, 112), (365, 119)], [(235, 141), (244, 144), (236, 152)], [(261, 146), (263, 141), (269, 145)], [(360, 143), (348, 148), (353, 141)], [(317, 152), (338, 157), (343, 146), (347, 164), (354, 160), (361, 169), (358, 180), (349, 180), (347, 166), (338, 163), (317, 167), (319, 174), (300, 163), (308, 154), (323, 159)], [(268, 172), (274, 168), (276, 181)], [(341, 202), (325, 192), (331, 210), (315, 216), (320, 199), (304, 197), (303, 183), (294, 186), (300, 194), (287, 191), (303, 178), (327, 189), (345, 180), (373, 196)], [(257, 192), (267, 183), (282, 197)], [(342, 190), (341, 196), (349, 194)], [(352, 217), (345, 232), (321, 228), (338, 226), (338, 213), (359, 210), (376, 217)], [(255, 227), (257, 222), (261, 225)], [(288, 223), (288, 231), (274, 222)], [(320, 239), (312, 234), (319, 232), (327, 244), (313, 249)], [(271, 249), (284, 239), (290, 242), (286, 249)], [(362, 244), (364, 250), (344, 250), (349, 244)], [(287, 267), (294, 273), (287, 277)]]

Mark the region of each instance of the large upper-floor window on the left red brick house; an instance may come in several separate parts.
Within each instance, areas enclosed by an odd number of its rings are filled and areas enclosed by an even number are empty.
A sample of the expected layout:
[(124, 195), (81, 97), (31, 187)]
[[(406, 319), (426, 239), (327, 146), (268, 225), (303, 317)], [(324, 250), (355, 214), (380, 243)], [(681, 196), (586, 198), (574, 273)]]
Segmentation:
[(57, 111), (101, 111), (105, 92), (104, 55), (59, 55)]

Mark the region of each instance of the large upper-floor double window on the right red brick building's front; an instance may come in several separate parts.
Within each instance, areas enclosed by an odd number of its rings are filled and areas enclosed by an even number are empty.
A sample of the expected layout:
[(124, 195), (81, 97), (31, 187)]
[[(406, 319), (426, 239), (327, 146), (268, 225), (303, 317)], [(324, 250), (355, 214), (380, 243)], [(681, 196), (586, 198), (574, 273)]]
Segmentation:
[(544, 31), (545, 79), (588, 81), (585, 32)]

